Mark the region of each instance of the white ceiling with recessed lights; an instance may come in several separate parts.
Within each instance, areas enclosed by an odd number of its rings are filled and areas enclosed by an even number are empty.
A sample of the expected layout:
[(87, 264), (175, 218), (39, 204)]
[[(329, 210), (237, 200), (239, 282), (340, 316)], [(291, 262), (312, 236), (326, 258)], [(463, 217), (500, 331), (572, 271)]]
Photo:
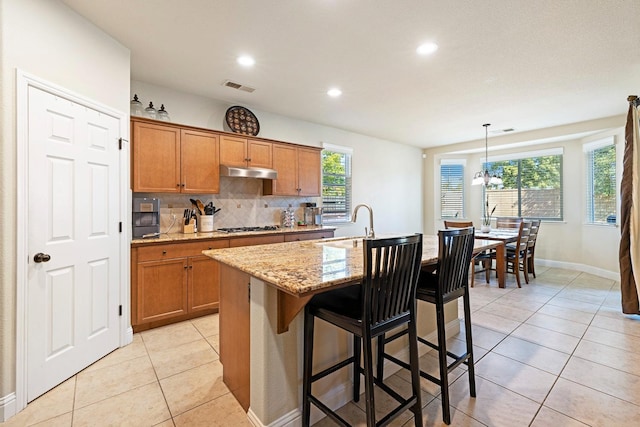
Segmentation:
[(131, 49), (133, 80), (425, 148), (625, 114), (640, 92), (638, 0), (63, 2)]

